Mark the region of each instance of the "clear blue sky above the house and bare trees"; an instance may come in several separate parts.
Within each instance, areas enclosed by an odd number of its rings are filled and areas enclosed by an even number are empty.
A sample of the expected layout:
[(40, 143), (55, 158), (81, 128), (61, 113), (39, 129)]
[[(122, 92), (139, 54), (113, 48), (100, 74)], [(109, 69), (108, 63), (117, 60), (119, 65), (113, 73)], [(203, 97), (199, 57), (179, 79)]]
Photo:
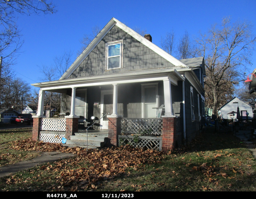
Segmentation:
[[(72, 60), (77, 56), (84, 34), (90, 34), (95, 25), (103, 28), (112, 17), (130, 28), (146, 29), (152, 42), (160, 46), (161, 36), (172, 29), (176, 39), (187, 30), (191, 37), (198, 32), (207, 32), (214, 23), (222, 18), (231, 17), (231, 22), (248, 20), (254, 25), (256, 35), (256, 1), (85, 1), (53, 0), (57, 12), (50, 15), (19, 15), (18, 27), (23, 39), (22, 53), (12, 68), (16, 77), (27, 83), (41, 82), (39, 67), (51, 65), (53, 58), (64, 50), (74, 51)], [(256, 51), (251, 57), (256, 68)], [(247, 73), (249, 74), (249, 73)]]

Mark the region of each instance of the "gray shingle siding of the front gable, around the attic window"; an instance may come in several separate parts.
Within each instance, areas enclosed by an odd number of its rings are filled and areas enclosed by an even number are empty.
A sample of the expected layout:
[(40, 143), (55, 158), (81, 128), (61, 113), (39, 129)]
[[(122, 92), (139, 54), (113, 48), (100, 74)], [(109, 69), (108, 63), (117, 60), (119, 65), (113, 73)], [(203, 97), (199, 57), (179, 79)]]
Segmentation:
[[(105, 44), (124, 40), (123, 68), (105, 71)], [(124, 71), (150, 68), (172, 67), (170, 62), (153, 52), (135, 38), (114, 26), (90, 54), (82, 61), (69, 78), (81, 78), (91, 75), (122, 73)]]

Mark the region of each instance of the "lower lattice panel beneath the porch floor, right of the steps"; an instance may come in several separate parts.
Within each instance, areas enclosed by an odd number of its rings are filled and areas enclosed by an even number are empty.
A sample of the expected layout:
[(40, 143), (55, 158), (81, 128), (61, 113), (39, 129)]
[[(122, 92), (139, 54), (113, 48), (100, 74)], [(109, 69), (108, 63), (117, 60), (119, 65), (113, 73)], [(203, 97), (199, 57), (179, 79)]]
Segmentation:
[(150, 137), (150, 136), (129, 136), (119, 135), (119, 146), (129, 144), (138, 148), (147, 148), (161, 151), (162, 150), (162, 138)]

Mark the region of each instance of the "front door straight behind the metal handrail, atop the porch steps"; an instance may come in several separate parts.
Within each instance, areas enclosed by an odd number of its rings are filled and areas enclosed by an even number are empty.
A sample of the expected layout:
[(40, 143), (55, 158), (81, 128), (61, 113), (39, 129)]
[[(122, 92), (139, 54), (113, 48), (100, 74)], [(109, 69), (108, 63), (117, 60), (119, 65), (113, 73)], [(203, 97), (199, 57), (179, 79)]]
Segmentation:
[[(113, 90), (101, 91), (101, 117), (113, 113)], [(102, 129), (108, 129), (107, 115), (101, 118)]]

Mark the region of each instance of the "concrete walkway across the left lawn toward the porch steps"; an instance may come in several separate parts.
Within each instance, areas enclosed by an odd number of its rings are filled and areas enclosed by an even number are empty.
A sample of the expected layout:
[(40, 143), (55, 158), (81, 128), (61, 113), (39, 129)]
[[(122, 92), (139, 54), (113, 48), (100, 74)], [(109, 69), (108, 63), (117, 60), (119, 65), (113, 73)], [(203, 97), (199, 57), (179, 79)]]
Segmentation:
[(41, 152), (38, 157), (34, 159), (18, 162), (12, 165), (0, 167), (0, 177), (10, 175), (21, 170), (32, 168), (36, 165), (41, 165), (45, 162), (54, 162), (60, 159), (73, 157), (73, 153), (62, 153), (62, 152)]

